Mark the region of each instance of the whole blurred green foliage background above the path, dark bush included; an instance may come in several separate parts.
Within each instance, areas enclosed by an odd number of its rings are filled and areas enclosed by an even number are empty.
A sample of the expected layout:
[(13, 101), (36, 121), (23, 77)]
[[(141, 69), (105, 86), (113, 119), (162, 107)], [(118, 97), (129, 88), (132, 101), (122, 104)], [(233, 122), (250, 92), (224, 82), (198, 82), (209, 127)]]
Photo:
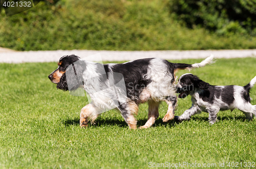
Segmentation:
[(256, 48), (256, 0), (55, 0), (0, 12), (0, 46), (15, 50)]

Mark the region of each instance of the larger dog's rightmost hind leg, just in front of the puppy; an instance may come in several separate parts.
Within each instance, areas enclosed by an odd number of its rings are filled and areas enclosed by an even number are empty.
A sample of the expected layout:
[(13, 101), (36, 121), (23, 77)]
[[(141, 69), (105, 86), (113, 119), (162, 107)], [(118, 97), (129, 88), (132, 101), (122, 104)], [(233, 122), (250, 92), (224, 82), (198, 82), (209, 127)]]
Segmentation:
[(174, 110), (177, 103), (177, 96), (169, 96), (165, 102), (168, 104), (168, 110), (166, 115), (163, 117), (163, 122), (168, 122), (174, 118)]

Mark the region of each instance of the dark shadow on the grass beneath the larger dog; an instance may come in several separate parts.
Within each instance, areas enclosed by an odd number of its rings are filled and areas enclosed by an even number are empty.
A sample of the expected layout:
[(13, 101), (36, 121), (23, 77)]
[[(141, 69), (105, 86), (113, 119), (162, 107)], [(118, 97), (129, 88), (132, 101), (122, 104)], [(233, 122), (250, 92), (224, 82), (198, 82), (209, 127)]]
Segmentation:
[[(137, 121), (137, 127), (139, 128), (140, 126), (143, 126), (145, 123), (147, 122), (146, 119), (143, 120), (138, 120)], [(75, 118), (75, 119), (67, 119), (63, 122), (65, 124), (65, 126), (69, 126), (69, 125), (79, 125), (79, 119)], [(155, 124), (153, 124), (152, 127), (157, 127), (157, 126), (166, 126), (166, 127), (174, 127), (176, 124), (178, 124), (176, 121), (172, 120), (168, 123), (165, 123), (162, 121), (162, 119), (157, 119), (155, 121)], [(91, 123), (89, 122), (89, 126), (91, 125)], [(95, 124), (92, 126), (95, 127), (101, 127), (101, 126), (119, 126), (122, 128), (127, 127), (127, 124), (125, 123), (124, 120), (117, 120), (117, 119), (96, 119)]]

